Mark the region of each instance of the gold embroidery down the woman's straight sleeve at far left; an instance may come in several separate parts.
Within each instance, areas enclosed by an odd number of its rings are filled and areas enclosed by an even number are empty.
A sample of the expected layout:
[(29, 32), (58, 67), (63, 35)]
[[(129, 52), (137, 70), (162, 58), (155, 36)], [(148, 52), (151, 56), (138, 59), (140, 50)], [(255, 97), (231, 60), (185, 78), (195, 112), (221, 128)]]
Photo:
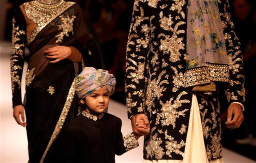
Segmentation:
[(10, 58), (10, 76), (11, 76), (11, 90), (12, 93), (14, 93), (14, 87), (15, 85), (18, 86), (18, 89), (21, 87), (21, 77), (17, 75), (17, 70), (22, 70), (22, 67), (20, 65), (17, 65), (17, 59), (18, 57), (23, 58), (24, 53), (24, 43), (17, 43), (17, 41), (20, 41), (20, 36), (25, 35), (24, 30), (20, 30), (19, 26), (16, 26), (15, 19), (12, 19), (12, 41), (11, 41), (11, 58)]

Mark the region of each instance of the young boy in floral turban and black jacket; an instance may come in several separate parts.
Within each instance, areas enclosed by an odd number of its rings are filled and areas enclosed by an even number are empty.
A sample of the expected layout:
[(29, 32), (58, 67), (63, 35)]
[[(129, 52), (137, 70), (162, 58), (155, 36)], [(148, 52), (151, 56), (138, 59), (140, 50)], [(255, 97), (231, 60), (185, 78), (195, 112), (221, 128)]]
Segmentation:
[(115, 155), (138, 146), (139, 136), (130, 133), (122, 138), (121, 120), (103, 113), (114, 87), (115, 78), (105, 70), (85, 67), (76, 77), (75, 92), (82, 111), (58, 136), (60, 162), (114, 163)]

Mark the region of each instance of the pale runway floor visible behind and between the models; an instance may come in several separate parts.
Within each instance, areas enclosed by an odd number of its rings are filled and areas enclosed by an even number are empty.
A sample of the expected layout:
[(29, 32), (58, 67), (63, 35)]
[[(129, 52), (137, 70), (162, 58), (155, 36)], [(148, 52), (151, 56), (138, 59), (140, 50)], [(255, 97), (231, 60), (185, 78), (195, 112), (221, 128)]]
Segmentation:
[[(17, 125), (12, 117), (9, 52), (10, 43), (0, 42), (0, 163), (26, 163), (28, 155), (25, 128)], [(22, 85), (24, 86), (24, 77)], [(24, 87), (21, 91), (24, 94)], [(110, 114), (122, 119), (122, 134), (130, 133), (131, 126), (125, 106), (111, 101), (108, 108)], [(139, 147), (122, 156), (116, 156), (116, 163), (141, 163), (142, 149), (141, 137)], [(223, 159), (225, 163), (256, 163), (227, 149), (223, 149)]]

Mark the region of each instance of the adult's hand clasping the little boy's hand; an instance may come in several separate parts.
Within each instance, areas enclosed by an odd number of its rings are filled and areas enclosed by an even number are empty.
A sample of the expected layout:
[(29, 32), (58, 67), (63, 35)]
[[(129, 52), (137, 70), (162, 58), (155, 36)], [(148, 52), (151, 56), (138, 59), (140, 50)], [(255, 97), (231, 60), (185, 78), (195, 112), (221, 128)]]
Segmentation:
[[(134, 115), (130, 118), (131, 120), (131, 127), (132, 127), (132, 132), (135, 133), (138, 136), (145, 136), (149, 134), (149, 122), (144, 114), (137, 114)], [(138, 123), (143, 120), (144, 124), (147, 126), (147, 129), (145, 128), (139, 128)], [(136, 124), (137, 123), (137, 124)]]

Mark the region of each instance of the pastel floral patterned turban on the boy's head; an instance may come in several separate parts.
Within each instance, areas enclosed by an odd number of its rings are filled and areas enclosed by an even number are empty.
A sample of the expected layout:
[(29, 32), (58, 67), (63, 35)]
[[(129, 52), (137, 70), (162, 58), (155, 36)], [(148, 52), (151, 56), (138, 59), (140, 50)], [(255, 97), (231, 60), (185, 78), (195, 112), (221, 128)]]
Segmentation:
[(80, 99), (85, 98), (94, 91), (106, 86), (109, 94), (113, 94), (115, 88), (115, 78), (108, 71), (85, 67), (75, 78), (75, 92)]

